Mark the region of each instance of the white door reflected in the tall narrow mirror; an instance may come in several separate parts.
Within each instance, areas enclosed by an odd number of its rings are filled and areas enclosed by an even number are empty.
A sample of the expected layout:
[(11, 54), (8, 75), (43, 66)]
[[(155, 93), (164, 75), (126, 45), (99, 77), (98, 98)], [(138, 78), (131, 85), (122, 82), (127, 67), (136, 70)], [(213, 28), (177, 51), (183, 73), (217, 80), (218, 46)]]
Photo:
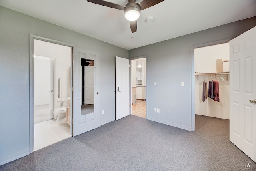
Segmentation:
[(94, 66), (84, 66), (84, 104), (94, 104)]

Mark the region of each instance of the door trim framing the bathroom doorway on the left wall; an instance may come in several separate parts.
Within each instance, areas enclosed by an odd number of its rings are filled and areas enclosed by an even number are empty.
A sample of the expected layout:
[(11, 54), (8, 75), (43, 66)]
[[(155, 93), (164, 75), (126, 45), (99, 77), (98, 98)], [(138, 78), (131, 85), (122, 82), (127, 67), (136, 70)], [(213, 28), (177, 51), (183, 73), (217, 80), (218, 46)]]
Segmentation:
[[(69, 46), (72, 48), (72, 56), (73, 56), (73, 44), (69, 44), (66, 42), (60, 42), (58, 40), (53, 40), (49, 38), (44, 38), (42, 36), (36, 36), (34, 34), (29, 34), (29, 153), (32, 153), (34, 150), (34, 39), (42, 40), (45, 42), (50, 42), (54, 44), (60, 44), (64, 46)], [(71, 62), (71, 87), (73, 87), (73, 58)], [(72, 98), (73, 92), (71, 94), (71, 119), (72, 119)], [(72, 129), (70, 129), (70, 133), (72, 135)]]

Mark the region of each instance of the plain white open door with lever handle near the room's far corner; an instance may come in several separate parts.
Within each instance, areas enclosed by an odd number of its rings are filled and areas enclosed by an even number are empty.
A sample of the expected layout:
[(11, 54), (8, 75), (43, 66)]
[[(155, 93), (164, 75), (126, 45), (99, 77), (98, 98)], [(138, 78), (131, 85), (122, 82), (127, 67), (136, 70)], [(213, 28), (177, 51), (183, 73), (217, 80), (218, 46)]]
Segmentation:
[(116, 120), (130, 114), (129, 60), (116, 56)]

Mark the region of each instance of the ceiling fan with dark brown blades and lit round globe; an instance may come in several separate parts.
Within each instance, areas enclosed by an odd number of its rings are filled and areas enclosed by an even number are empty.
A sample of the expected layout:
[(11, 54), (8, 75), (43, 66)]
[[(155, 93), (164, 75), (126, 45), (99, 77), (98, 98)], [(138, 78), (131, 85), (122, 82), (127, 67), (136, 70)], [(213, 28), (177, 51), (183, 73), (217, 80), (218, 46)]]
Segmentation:
[(87, 1), (92, 2), (94, 4), (99, 4), (110, 8), (123, 10), (125, 18), (130, 21), (130, 28), (132, 30), (132, 33), (134, 33), (137, 31), (137, 19), (140, 17), (140, 11), (151, 6), (154, 6), (164, 0), (143, 0), (140, 3), (136, 3), (136, 0), (128, 0), (128, 4), (126, 4), (125, 6), (114, 4), (112, 2), (107, 2), (104, 0)]

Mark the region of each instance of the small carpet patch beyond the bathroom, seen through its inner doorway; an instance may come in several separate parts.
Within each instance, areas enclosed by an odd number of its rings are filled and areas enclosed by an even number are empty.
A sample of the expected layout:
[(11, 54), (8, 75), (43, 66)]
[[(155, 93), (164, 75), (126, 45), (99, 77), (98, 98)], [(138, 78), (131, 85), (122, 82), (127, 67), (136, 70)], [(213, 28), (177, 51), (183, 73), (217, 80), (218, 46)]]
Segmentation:
[(34, 123), (50, 120), (49, 104), (34, 106)]

